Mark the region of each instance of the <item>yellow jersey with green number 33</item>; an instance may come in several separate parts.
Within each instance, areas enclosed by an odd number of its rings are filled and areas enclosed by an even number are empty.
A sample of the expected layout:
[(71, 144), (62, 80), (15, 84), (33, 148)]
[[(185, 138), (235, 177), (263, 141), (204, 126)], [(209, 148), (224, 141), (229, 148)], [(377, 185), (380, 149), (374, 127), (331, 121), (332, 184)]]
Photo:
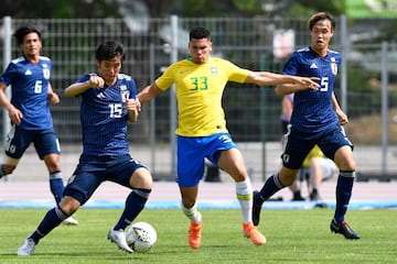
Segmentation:
[(155, 80), (161, 90), (175, 84), (178, 128), (183, 136), (207, 136), (227, 132), (222, 96), (227, 81), (243, 84), (249, 70), (223, 58), (195, 64), (190, 58), (172, 64)]

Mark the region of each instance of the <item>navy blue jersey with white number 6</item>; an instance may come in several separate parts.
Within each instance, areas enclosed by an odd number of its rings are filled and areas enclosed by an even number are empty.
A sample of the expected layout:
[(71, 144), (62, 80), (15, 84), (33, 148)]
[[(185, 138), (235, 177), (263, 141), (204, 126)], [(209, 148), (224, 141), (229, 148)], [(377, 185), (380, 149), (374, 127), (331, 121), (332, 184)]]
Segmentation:
[(13, 59), (1, 75), (0, 81), (11, 85), (11, 103), (22, 114), (21, 128), (46, 130), (53, 127), (47, 92), (52, 62), (40, 56), (37, 64), (24, 57)]

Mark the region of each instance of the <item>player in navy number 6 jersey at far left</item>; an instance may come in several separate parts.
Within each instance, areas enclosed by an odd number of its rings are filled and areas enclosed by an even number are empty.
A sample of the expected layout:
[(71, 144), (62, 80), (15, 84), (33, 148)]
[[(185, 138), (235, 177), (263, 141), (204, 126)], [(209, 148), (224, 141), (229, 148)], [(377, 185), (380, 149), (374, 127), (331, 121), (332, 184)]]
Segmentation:
[[(50, 189), (58, 204), (63, 197), (64, 183), (60, 142), (49, 107), (49, 101), (60, 102), (50, 82), (52, 62), (40, 55), (41, 33), (34, 26), (21, 26), (13, 36), (22, 56), (13, 59), (0, 76), (0, 105), (11, 120), (11, 130), (4, 144), (6, 157), (0, 164), (0, 178), (13, 173), (23, 153), (33, 143), (40, 160), (44, 160), (50, 174)], [(11, 100), (6, 95), (9, 86), (12, 87)], [(78, 221), (69, 217), (64, 223), (78, 224)]]

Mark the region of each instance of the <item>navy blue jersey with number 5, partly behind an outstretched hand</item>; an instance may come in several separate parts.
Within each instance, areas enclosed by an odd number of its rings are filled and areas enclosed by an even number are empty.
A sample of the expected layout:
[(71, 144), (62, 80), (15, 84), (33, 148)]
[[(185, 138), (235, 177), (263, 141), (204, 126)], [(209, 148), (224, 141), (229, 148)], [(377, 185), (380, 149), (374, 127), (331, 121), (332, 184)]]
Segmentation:
[(319, 56), (310, 47), (292, 54), (282, 70), (286, 75), (318, 77), (319, 90), (302, 90), (294, 94), (291, 124), (296, 130), (318, 133), (337, 124), (332, 106), (332, 94), (342, 57), (337, 52), (328, 51)]

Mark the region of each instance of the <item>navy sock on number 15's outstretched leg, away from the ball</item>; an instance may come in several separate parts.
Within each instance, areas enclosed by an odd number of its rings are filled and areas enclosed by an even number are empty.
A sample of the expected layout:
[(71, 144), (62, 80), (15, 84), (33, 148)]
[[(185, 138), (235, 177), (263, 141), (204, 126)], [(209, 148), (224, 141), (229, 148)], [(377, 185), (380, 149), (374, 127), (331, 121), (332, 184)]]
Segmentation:
[(68, 218), (66, 213), (64, 213), (60, 208), (55, 207), (47, 211), (43, 220), (40, 222), (37, 229), (29, 237), (36, 244), (39, 241), (49, 234), (54, 228), (60, 226), (63, 220)]

